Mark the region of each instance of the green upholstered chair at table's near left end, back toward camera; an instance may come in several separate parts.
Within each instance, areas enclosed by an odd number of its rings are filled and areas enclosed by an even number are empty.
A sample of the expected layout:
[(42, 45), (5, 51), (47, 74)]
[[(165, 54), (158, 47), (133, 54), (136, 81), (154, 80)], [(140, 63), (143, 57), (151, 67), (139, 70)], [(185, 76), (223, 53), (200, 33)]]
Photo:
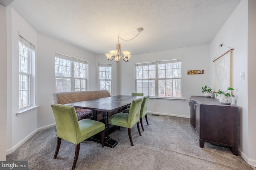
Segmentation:
[(101, 132), (102, 147), (104, 147), (105, 124), (91, 119), (78, 121), (76, 110), (73, 106), (52, 104), (52, 111), (56, 123), (57, 146), (54, 154), (55, 159), (58, 155), (61, 140), (64, 139), (76, 145), (76, 152), (72, 170), (76, 168), (79, 155), (80, 143), (93, 135)]

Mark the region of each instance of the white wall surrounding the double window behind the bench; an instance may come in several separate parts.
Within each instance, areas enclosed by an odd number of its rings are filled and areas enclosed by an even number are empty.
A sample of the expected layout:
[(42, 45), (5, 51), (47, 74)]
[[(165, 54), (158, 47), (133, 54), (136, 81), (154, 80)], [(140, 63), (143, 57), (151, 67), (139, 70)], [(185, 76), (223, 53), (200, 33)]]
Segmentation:
[[(38, 128), (54, 124), (51, 104), (55, 93), (55, 51), (60, 51), (88, 61), (88, 90), (98, 90), (98, 67), (95, 54), (74, 47), (57, 39), (38, 33)], [(98, 65), (97, 65), (98, 66)]]

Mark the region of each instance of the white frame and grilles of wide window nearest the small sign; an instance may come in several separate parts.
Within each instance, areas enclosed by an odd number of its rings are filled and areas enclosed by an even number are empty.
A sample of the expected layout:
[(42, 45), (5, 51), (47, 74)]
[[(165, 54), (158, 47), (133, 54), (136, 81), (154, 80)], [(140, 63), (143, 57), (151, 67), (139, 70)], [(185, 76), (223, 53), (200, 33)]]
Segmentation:
[[(168, 64), (168, 63), (180, 63), (180, 68), (168, 68), (168, 69), (164, 69), (164, 70), (172, 70), (172, 77), (170, 78), (170, 77), (164, 77), (164, 78), (159, 78), (159, 64)], [(138, 74), (138, 70), (137, 70), (137, 66), (154, 66), (155, 67), (155, 75), (154, 75), (154, 77), (152, 77), (152, 78), (150, 78), (150, 77), (148, 77), (148, 78), (138, 78), (137, 77), (137, 74)], [(179, 75), (180, 75), (180, 77), (173, 77), (173, 70), (174, 69), (179, 69), (180, 70), (180, 72), (179, 72)], [(163, 69), (162, 69), (163, 70)], [(150, 70), (148, 70), (148, 71), (150, 71)], [(153, 70), (151, 70), (151, 71), (153, 71)], [(143, 72), (143, 70), (142, 70), (142, 72)], [(166, 73), (166, 71), (165, 71), (165, 73)], [(142, 73), (142, 75), (143, 75), (143, 73)], [(182, 99), (182, 59), (172, 59), (172, 60), (164, 60), (164, 61), (148, 61), (148, 62), (140, 62), (140, 63), (136, 63), (135, 64), (135, 91), (136, 92), (141, 92), (141, 91), (138, 91), (138, 88), (140, 88), (140, 87), (137, 87), (137, 81), (145, 81), (145, 80), (148, 80), (148, 82), (150, 81), (150, 80), (154, 80), (154, 86), (152, 87), (152, 89), (153, 89), (153, 92), (154, 92), (154, 96), (151, 96), (150, 94), (150, 98), (164, 98), (164, 99)], [(174, 88), (175, 87), (173, 87), (172, 86), (172, 97), (166, 97), (166, 90), (164, 91), (164, 94), (165, 94), (165, 96), (159, 96), (159, 89), (160, 89), (160, 87), (159, 87), (159, 80), (172, 80), (172, 81), (174, 81), (174, 80), (180, 80), (180, 87), (178, 88), (178, 89), (180, 89), (180, 97), (173, 97), (173, 94), (174, 94)], [(166, 84), (165, 84), (165, 86), (164, 86), (164, 88), (166, 89), (167, 87), (166, 87)], [(144, 92), (143, 91), (143, 84), (142, 84), (142, 92)], [(177, 88), (175, 88), (175, 89), (177, 89)], [(148, 95), (148, 94), (144, 94), (144, 95)]]

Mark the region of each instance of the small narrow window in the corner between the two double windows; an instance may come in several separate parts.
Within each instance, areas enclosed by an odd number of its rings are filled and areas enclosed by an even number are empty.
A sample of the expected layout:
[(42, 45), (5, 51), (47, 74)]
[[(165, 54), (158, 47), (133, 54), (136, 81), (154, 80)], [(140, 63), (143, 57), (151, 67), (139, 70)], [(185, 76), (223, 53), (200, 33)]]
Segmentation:
[(99, 63), (100, 90), (108, 90), (111, 94), (112, 87), (112, 64)]

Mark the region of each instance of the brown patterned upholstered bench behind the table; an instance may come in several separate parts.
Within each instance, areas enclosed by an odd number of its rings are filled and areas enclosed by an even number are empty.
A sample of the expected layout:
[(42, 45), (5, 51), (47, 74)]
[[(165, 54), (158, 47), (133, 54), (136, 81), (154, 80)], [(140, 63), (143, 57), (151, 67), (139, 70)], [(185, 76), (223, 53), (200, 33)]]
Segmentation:
[[(110, 97), (107, 90), (81, 91), (81, 92), (59, 92), (52, 94), (54, 104), (68, 104)], [(76, 108), (78, 120), (91, 119), (92, 111), (90, 109)], [(111, 113), (111, 115), (114, 113)], [(110, 115), (109, 115), (110, 116)], [(102, 120), (102, 112), (97, 113), (98, 121)]]

